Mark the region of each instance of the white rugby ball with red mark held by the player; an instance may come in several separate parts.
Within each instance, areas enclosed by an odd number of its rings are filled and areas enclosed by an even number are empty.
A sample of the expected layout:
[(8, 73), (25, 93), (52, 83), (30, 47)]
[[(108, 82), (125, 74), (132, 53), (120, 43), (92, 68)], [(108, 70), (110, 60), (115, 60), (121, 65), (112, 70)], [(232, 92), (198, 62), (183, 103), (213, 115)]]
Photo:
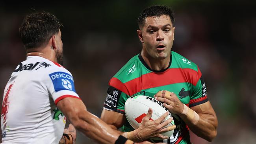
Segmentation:
[[(128, 100), (126, 100), (124, 104), (125, 116), (130, 125), (134, 129), (137, 129), (141, 125), (141, 120), (147, 115), (149, 108), (152, 108), (153, 110), (151, 117), (152, 120), (160, 118), (160, 116), (162, 116), (164, 113), (168, 111), (168, 109), (165, 108), (161, 102), (149, 96), (132, 96), (128, 98)], [(171, 117), (171, 113), (169, 113), (165, 120)], [(172, 125), (174, 125), (174, 121), (172, 121), (165, 127)], [(167, 131), (161, 134), (164, 136), (171, 137), (171, 135), (173, 135), (173, 131), (174, 130)], [(158, 137), (154, 137), (151, 139), (160, 140), (160, 138)]]

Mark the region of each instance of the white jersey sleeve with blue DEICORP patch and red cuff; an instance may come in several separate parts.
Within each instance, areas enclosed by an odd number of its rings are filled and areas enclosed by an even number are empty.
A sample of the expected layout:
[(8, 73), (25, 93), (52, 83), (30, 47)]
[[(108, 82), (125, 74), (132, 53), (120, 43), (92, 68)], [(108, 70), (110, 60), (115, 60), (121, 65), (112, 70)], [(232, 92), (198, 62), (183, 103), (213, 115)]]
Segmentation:
[(63, 67), (50, 70), (43, 76), (43, 85), (45, 85), (50, 97), (55, 105), (63, 98), (79, 98), (76, 94), (74, 79), (72, 74)]

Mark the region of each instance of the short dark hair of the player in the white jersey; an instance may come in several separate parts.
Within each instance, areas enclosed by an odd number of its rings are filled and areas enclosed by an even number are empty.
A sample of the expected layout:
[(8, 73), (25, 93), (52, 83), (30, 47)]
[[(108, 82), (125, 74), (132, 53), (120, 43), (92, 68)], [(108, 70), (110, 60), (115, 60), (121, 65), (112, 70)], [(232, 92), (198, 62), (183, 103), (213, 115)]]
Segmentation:
[(63, 28), (58, 18), (48, 12), (26, 15), (19, 28), (20, 37), (26, 49), (46, 44), (52, 35)]

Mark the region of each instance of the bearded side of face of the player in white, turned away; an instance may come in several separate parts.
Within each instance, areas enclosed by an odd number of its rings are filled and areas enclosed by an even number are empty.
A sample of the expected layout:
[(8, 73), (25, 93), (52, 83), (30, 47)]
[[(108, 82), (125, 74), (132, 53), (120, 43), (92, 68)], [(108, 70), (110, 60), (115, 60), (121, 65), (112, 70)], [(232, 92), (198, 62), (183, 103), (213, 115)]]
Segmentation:
[(56, 59), (60, 65), (63, 65), (63, 43), (61, 40), (61, 31), (56, 35), (57, 49), (56, 49)]

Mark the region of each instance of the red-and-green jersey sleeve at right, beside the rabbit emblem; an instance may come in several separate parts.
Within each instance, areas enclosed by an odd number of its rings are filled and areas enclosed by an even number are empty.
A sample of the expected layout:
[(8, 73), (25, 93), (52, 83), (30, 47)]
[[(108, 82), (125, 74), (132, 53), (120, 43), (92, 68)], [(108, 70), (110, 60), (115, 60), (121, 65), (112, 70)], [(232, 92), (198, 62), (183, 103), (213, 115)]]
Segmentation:
[(202, 77), (202, 73), (200, 72), (199, 68), (197, 72), (197, 79), (197, 84), (192, 89), (189, 107), (194, 107), (196, 105), (208, 102), (206, 85), (204, 83), (204, 78)]

